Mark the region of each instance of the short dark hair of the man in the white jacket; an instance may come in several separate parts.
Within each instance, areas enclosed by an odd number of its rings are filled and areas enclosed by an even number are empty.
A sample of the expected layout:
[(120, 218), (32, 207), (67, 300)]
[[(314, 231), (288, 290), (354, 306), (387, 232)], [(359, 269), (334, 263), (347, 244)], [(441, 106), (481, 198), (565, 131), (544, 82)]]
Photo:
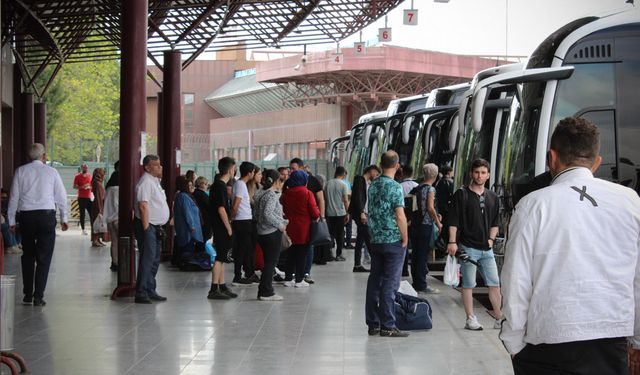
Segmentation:
[(600, 150), (598, 127), (584, 118), (564, 118), (553, 131), (551, 149), (564, 165), (591, 165)]

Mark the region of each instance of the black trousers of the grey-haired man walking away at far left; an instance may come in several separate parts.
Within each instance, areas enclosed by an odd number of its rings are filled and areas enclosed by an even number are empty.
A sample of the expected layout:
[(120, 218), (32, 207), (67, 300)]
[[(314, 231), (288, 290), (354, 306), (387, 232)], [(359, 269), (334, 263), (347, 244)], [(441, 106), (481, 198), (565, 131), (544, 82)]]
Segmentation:
[(25, 296), (41, 299), (56, 243), (56, 211), (22, 211), (18, 214), (18, 224), (22, 236), (22, 291)]

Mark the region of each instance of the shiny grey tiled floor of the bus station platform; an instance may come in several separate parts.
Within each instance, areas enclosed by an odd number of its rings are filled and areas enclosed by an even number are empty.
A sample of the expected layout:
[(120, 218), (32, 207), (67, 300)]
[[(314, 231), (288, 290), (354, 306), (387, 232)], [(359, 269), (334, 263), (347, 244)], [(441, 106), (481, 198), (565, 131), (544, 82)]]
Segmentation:
[[(109, 250), (89, 245), (78, 230), (60, 232), (44, 308), (21, 304), (17, 280), (14, 342), (32, 374), (512, 374), (482, 306), (486, 329), (465, 331), (459, 293), (435, 280), (443, 293), (428, 298), (432, 330), (369, 337), (367, 274), (352, 273), (350, 261), (314, 266), (317, 283), (308, 289), (278, 286), (282, 302), (257, 301), (256, 286), (235, 287), (236, 300), (209, 301), (208, 272), (163, 264), (158, 291), (169, 300), (136, 305), (109, 299)], [(6, 273), (20, 274), (19, 256), (5, 261)]]

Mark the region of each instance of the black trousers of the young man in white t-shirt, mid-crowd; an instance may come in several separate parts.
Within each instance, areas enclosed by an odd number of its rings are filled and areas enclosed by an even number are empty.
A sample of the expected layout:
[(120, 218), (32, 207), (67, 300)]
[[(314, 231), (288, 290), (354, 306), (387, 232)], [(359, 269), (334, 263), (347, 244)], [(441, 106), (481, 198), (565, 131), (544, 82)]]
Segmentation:
[(233, 229), (233, 273), (234, 279), (251, 277), (255, 268), (256, 247), (253, 242), (253, 223), (251, 220), (234, 220)]

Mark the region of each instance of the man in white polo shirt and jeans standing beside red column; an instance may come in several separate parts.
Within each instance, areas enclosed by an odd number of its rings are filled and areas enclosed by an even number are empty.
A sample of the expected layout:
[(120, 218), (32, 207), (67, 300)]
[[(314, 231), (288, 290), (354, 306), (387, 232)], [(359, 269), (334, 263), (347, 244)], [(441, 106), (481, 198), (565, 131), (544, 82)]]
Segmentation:
[(162, 226), (169, 221), (169, 206), (167, 196), (160, 186), (160, 158), (157, 155), (147, 155), (142, 159), (142, 166), (144, 174), (136, 184), (134, 204), (134, 228), (140, 254), (135, 302), (149, 304), (152, 300), (167, 300), (156, 291), (156, 275), (165, 235)]

